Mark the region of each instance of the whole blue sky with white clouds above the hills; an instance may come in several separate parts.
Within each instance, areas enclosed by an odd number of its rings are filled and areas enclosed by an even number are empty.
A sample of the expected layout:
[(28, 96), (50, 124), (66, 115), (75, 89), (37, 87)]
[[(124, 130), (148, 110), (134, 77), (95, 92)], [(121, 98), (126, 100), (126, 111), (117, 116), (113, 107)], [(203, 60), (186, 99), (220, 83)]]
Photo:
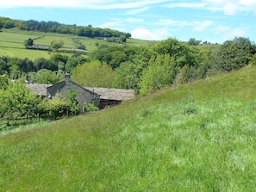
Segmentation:
[(0, 0), (0, 16), (91, 24), (143, 40), (256, 42), (256, 0)]

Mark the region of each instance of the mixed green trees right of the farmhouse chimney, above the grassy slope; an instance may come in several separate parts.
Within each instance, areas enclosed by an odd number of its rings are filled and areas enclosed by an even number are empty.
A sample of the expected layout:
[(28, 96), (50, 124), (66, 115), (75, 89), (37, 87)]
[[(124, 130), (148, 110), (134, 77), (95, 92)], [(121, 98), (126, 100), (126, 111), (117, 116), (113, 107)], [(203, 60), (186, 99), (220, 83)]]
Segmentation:
[(243, 37), (222, 45), (190, 46), (169, 38), (150, 47), (101, 46), (89, 54), (90, 61), (72, 69), (72, 77), (84, 86), (134, 89), (144, 95), (240, 69), (256, 57), (255, 53), (254, 42)]

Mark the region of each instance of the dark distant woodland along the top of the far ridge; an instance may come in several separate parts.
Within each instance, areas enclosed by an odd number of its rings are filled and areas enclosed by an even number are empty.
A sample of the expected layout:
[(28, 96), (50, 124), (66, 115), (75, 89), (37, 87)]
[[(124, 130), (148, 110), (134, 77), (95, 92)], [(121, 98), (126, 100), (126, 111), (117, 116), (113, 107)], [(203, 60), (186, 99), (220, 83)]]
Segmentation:
[(0, 17), (0, 28), (18, 28), (27, 31), (41, 31), (59, 34), (77, 34), (78, 36), (91, 38), (130, 38), (131, 34), (120, 32), (110, 28), (93, 28), (88, 26), (66, 25), (59, 22), (38, 22), (34, 20), (21, 21), (7, 17)]

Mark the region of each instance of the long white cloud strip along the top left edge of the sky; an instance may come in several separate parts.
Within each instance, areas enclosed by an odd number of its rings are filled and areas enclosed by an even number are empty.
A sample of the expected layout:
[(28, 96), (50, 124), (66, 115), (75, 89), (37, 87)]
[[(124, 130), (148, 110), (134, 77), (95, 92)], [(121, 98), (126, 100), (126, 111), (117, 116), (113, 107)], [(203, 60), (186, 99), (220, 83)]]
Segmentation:
[[(136, 9), (168, 0), (0, 0), (1, 8), (12, 7), (66, 7), (83, 9)], [(1, 9), (0, 8), (0, 9)]]

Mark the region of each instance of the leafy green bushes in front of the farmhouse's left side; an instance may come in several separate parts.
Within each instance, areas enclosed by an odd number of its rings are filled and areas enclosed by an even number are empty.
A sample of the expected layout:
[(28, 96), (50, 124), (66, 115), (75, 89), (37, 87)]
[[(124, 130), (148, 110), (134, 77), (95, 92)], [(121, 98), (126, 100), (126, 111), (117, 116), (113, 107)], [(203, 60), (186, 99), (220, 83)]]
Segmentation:
[(66, 98), (56, 96), (53, 99), (41, 100), (28, 89), (23, 78), (9, 81), (6, 75), (1, 75), (0, 85), (0, 117), (9, 120), (37, 115), (46, 115), (55, 119), (60, 115), (77, 115), (81, 112), (75, 91), (70, 90)]

